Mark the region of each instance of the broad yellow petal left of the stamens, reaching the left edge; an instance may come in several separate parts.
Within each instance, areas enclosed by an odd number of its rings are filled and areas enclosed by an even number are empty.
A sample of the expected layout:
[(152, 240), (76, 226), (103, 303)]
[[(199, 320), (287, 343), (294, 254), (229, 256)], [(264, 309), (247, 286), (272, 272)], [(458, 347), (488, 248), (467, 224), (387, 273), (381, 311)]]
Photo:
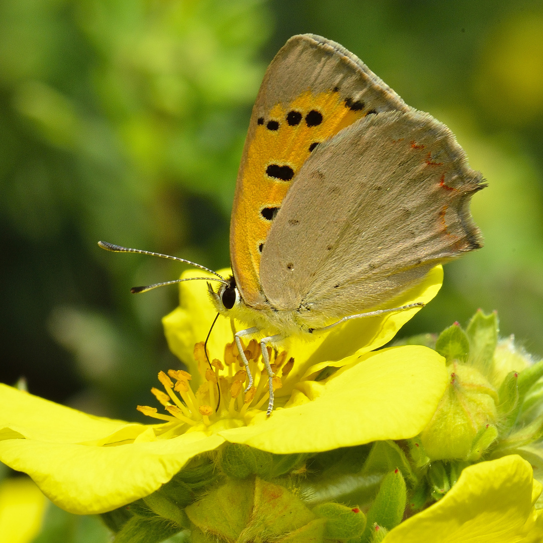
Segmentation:
[(0, 386), (0, 406), (0, 428), (7, 427), (0, 461), (28, 473), (71, 513), (103, 513), (147, 496), (192, 457), (224, 442), (198, 431), (131, 441), (153, 427), (86, 415), (7, 386)]

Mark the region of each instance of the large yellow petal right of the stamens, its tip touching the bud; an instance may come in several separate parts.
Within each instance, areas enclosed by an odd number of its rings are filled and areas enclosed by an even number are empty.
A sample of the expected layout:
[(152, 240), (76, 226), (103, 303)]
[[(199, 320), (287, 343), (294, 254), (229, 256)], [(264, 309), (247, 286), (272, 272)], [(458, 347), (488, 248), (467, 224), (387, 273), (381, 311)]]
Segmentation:
[(418, 434), (447, 384), (445, 359), (420, 345), (354, 355), (325, 382), (302, 382), (296, 401), (249, 426), (219, 432), (232, 443), (275, 453), (314, 452)]

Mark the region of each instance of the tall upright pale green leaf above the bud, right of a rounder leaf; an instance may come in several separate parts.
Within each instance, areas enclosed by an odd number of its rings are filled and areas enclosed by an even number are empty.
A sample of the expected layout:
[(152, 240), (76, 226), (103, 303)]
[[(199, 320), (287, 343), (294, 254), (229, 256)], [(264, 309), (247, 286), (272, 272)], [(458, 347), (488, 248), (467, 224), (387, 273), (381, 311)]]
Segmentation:
[(485, 315), (478, 310), (470, 320), (466, 334), (470, 340), (470, 356), (468, 362), (484, 376), (490, 375), (494, 351), (498, 343), (498, 316)]

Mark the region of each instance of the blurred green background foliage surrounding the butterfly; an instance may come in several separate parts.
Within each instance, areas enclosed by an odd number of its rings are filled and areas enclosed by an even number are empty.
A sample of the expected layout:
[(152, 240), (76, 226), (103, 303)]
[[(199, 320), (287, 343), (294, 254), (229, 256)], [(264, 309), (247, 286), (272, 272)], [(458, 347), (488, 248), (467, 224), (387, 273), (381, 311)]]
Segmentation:
[(498, 310), (543, 355), (541, 1), (2, 0), (0, 380), (137, 419), (179, 364), (160, 318), (178, 265), (227, 266), (230, 207), (266, 65), (297, 33), (342, 43), (456, 133), (489, 188), (486, 244), (446, 266), (402, 334)]

